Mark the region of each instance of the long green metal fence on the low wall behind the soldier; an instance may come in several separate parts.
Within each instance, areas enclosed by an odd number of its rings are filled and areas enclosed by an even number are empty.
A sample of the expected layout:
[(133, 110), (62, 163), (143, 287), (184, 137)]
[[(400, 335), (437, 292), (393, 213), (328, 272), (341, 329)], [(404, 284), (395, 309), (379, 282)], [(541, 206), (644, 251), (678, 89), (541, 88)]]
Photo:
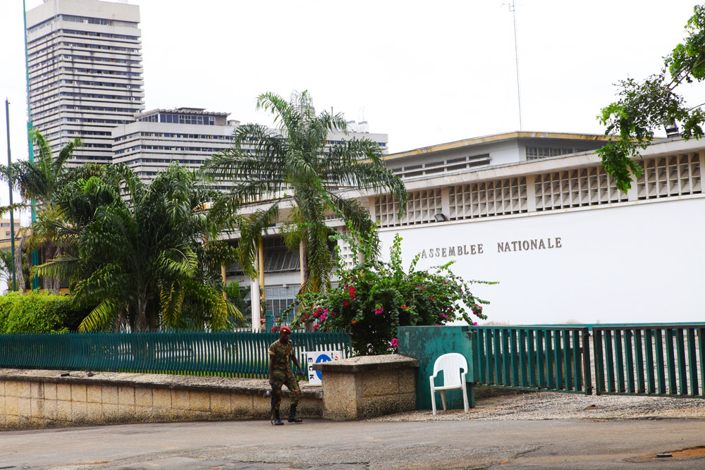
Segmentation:
[[(267, 348), (278, 338), (190, 332), (0, 335), (0, 367), (266, 378)], [(303, 370), (306, 351), (352, 354), (348, 333), (293, 333), (291, 340)]]

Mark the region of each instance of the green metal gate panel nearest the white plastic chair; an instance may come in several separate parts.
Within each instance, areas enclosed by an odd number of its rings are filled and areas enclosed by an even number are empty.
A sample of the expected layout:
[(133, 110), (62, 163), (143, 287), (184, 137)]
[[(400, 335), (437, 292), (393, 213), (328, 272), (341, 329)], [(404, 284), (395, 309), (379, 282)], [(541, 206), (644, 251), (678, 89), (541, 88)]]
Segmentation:
[(587, 328), (476, 326), (469, 333), (479, 385), (592, 392)]

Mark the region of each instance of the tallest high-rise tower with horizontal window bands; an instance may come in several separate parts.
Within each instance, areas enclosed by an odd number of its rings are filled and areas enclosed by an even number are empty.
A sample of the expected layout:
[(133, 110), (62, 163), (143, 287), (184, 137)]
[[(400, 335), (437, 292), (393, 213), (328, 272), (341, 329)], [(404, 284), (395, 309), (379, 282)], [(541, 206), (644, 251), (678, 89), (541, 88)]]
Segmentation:
[(109, 163), (111, 129), (144, 109), (140, 8), (44, 0), (27, 11), (30, 112), (56, 154), (80, 137), (68, 166)]

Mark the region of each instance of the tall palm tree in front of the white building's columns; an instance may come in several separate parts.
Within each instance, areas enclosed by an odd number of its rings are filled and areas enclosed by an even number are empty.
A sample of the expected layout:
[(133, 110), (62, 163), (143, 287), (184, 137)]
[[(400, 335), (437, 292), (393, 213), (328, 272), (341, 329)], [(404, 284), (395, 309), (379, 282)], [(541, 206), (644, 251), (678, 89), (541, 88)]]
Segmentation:
[(278, 221), (283, 204), (293, 203), (284, 231), (290, 247), (298, 241), (303, 245), (301, 292), (319, 292), (326, 289), (333, 271), (326, 216), (337, 214), (359, 233), (369, 233), (372, 227), (369, 213), (339, 190), (391, 192), (404, 209), (407, 195), (402, 181), (384, 167), (376, 142), (352, 138), (329, 145), (330, 132), (348, 132), (343, 115), (316, 115), (308, 92), (294, 96), (287, 102), (274, 93), (259, 95), (257, 109), (269, 111), (278, 128), (241, 125), (233, 133), (233, 147), (202, 169), (212, 178), (235, 180), (230, 193), (234, 201), (269, 204), (240, 228), (245, 269), (252, 266), (262, 230)]

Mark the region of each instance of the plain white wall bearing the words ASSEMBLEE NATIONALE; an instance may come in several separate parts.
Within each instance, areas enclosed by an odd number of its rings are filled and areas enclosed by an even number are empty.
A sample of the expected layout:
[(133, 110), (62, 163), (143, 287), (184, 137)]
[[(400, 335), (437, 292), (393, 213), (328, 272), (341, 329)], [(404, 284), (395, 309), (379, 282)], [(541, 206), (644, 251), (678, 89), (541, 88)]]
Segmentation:
[[(425, 249), (419, 269), (455, 259), (451, 269), (462, 278), (499, 281), (472, 286), (491, 302), (484, 309), (491, 321), (701, 321), (704, 211), (705, 199), (693, 198), (386, 228), (379, 235), (385, 256), (394, 235), (403, 237), (405, 266)], [(522, 240), (544, 240), (545, 249), (498, 249)], [(470, 253), (482, 245), (482, 253), (428, 256), (460, 245)]]

